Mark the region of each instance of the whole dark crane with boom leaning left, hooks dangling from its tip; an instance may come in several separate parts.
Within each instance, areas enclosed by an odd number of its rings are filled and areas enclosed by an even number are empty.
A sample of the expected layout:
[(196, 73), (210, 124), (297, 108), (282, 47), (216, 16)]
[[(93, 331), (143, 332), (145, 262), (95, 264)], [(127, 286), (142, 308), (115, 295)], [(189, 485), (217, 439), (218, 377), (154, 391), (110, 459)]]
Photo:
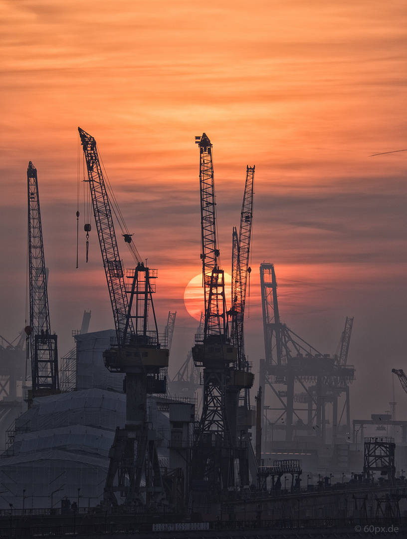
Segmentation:
[[(116, 328), (116, 342), (104, 352), (104, 364), (111, 372), (126, 375), (126, 423), (116, 429), (104, 499), (116, 504), (116, 493), (120, 492), (129, 506), (165, 503), (155, 431), (149, 429), (147, 421), (147, 394), (166, 392), (162, 372), (169, 358), (165, 340), (158, 334), (152, 303), (155, 290), (151, 281), (157, 278), (157, 271), (138, 260), (135, 269), (127, 270), (129, 283), (125, 282), (96, 141), (78, 129)], [(131, 236), (124, 234), (124, 241), (131, 242)]]

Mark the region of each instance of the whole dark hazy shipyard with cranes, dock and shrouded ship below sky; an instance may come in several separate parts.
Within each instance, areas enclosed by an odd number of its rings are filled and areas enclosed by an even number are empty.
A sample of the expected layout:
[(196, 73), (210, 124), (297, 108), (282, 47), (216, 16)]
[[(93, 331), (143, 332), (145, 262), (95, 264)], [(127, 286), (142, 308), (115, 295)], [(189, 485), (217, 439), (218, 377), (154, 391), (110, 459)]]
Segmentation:
[[(305, 522), (315, 529), (349, 528), (391, 518), (407, 524), (401, 469), (407, 466), (407, 423), (395, 421), (396, 403), (390, 403), (392, 413), (351, 424), (353, 317), (346, 318), (335, 353), (321, 353), (280, 321), (275, 268), (263, 262), (265, 355), (258, 376), (248, 361), (244, 312), (255, 167), (246, 169), (240, 226), (231, 234), (228, 308), (212, 143), (205, 133), (195, 137), (204, 302), (191, 351), (170, 381), (176, 313), (169, 312), (159, 333), (157, 270), (144, 264), (122, 223), (134, 260), (124, 269), (112, 217), (120, 211), (111, 209), (95, 139), (81, 128), (79, 136), (114, 329), (89, 333), (85, 312), (74, 349), (58, 360), (37, 170), (30, 162), (30, 323), (17, 343), (2, 338), (0, 349), (0, 535), (8, 526), (10, 536), (18, 529), (19, 536), (31, 537), (173, 530), (216, 530), (221, 536), (225, 530), (260, 533), (304, 528)], [(77, 218), (79, 231), (79, 211)], [(91, 230), (86, 223), (87, 244)], [(394, 373), (407, 392), (404, 372)], [(397, 426), (401, 439), (392, 436)]]

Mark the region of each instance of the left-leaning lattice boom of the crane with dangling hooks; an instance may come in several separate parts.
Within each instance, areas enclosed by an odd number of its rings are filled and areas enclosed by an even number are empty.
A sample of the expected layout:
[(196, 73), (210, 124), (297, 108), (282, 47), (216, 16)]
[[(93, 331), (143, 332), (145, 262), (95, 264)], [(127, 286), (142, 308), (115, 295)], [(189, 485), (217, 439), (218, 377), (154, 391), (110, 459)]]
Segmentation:
[(117, 342), (124, 344), (127, 334), (134, 334), (134, 327), (129, 317), (129, 302), (124, 282), (123, 264), (118, 252), (109, 198), (104, 184), (99, 156), (97, 155), (96, 141), (80, 127), (78, 130), (83, 152), (85, 153), (93, 212), (97, 233), (100, 238), (103, 266), (115, 320)]

